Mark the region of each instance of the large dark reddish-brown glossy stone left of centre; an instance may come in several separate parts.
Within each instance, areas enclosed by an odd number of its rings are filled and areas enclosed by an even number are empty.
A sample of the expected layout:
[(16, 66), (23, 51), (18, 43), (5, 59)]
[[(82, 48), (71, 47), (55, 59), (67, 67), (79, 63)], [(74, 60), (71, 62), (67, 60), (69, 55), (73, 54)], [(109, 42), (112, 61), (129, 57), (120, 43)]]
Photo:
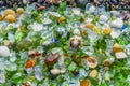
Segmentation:
[(57, 61), (58, 55), (57, 54), (49, 54), (46, 58), (47, 63), (51, 64), (55, 61)]

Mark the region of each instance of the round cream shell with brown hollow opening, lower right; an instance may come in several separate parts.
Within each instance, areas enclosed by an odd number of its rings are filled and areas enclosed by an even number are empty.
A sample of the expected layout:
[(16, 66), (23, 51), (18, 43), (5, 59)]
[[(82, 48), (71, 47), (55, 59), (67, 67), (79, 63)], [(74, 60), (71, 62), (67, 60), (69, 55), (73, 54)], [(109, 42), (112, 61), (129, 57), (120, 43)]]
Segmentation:
[(98, 60), (93, 57), (88, 57), (87, 58), (87, 66), (89, 68), (95, 68), (95, 67), (98, 67)]

